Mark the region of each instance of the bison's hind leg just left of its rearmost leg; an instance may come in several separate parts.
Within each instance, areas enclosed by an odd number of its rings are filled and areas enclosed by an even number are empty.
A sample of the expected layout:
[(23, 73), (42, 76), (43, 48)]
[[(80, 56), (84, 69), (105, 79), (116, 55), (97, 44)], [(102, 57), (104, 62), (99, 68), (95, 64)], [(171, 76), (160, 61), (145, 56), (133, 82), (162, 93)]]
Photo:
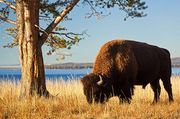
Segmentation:
[(154, 80), (153, 82), (150, 83), (151, 84), (151, 88), (153, 89), (154, 92), (154, 100), (153, 103), (156, 103), (159, 101), (159, 96), (161, 93), (161, 87), (159, 85), (159, 79)]

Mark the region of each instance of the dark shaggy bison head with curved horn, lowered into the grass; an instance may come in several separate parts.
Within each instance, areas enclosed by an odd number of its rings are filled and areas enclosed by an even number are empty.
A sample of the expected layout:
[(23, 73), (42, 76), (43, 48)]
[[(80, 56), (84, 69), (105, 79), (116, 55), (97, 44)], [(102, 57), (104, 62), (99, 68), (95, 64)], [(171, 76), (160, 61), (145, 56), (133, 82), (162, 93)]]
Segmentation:
[(102, 76), (91, 73), (84, 76), (81, 82), (88, 103), (103, 103), (107, 101), (109, 92)]

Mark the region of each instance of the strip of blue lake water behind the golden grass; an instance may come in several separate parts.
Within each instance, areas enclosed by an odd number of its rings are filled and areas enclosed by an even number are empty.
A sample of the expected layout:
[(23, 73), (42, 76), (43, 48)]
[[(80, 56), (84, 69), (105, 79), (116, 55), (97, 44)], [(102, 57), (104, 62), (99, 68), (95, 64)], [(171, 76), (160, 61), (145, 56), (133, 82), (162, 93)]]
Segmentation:
[[(78, 80), (92, 69), (45, 69), (46, 79)], [(180, 68), (172, 68), (172, 75), (180, 75)], [(20, 69), (0, 69), (0, 80), (20, 80)]]

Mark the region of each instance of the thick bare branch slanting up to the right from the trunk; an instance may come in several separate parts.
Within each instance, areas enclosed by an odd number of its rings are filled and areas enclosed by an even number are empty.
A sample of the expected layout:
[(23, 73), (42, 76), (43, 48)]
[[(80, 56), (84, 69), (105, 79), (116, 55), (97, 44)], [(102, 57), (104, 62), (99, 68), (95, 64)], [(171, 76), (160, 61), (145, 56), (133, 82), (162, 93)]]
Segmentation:
[(63, 18), (73, 9), (73, 7), (79, 2), (80, 0), (72, 0), (72, 2), (66, 6), (66, 8), (57, 16), (54, 21), (46, 28), (45, 32), (41, 35), (41, 45), (44, 44), (46, 39), (48, 38), (49, 34), (56, 28), (56, 26), (63, 20)]

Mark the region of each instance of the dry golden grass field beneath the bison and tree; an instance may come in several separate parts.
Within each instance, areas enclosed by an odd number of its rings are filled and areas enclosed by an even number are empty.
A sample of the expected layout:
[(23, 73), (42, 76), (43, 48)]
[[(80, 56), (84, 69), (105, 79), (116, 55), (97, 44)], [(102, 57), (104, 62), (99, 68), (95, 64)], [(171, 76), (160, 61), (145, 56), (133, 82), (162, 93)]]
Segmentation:
[(180, 119), (180, 76), (172, 77), (174, 102), (161, 85), (160, 102), (152, 105), (153, 92), (135, 87), (131, 104), (119, 104), (116, 97), (105, 104), (89, 105), (80, 81), (47, 81), (56, 98), (20, 99), (20, 84), (0, 82), (1, 119)]

